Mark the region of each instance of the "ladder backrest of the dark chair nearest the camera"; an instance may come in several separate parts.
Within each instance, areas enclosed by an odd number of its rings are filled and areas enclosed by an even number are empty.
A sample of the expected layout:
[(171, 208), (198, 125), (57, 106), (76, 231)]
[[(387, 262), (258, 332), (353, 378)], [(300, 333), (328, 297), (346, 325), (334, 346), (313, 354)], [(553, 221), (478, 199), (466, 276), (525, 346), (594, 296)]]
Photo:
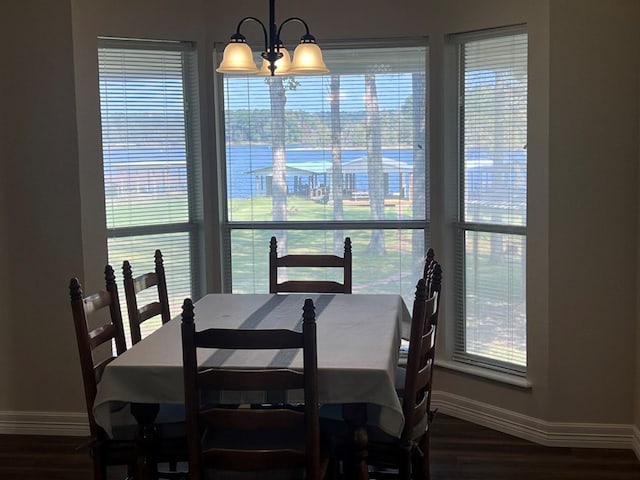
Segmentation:
[[(185, 408), (189, 478), (201, 478), (203, 468), (220, 470), (271, 470), (306, 467), (307, 478), (319, 479), (320, 432), (318, 416), (318, 367), (315, 308), (306, 299), (302, 333), (292, 330), (242, 330), (211, 328), (197, 332), (194, 307), (186, 299), (182, 313)], [(198, 369), (198, 349), (264, 350), (302, 349), (303, 371), (286, 368), (234, 370), (225, 367)], [(201, 357), (202, 358), (202, 357)], [(269, 408), (224, 408), (224, 405), (201, 404), (207, 391), (286, 391), (304, 389), (304, 408), (287, 408), (274, 404)], [(228, 406), (227, 406), (228, 407)], [(202, 444), (202, 434), (236, 432), (244, 435), (241, 445), (209, 447)], [(263, 446), (251, 449), (247, 431), (276, 430), (279, 436), (296, 433), (305, 439), (303, 450)], [(284, 432), (290, 432), (289, 434)], [(233, 433), (230, 434), (233, 437)], [(226, 448), (225, 448), (226, 447)], [(273, 447), (273, 448), (270, 448)]]

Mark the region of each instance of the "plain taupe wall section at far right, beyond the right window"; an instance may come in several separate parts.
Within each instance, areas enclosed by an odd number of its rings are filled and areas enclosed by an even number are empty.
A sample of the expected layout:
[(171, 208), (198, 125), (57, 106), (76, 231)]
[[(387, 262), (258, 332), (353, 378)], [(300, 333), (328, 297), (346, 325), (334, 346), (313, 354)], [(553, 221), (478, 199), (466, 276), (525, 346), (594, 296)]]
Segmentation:
[(630, 422), (638, 3), (551, 4), (550, 414)]

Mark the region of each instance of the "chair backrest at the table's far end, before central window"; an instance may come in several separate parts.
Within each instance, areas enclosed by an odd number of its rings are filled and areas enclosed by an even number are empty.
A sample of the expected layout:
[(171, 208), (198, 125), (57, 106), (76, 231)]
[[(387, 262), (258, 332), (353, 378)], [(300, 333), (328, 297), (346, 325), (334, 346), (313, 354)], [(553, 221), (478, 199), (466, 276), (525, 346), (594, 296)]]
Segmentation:
[[(351, 239), (344, 240), (344, 256), (323, 254), (301, 254), (278, 256), (278, 242), (271, 237), (269, 245), (269, 292), (270, 293), (351, 293)], [(343, 281), (288, 280), (278, 281), (280, 268), (329, 267), (343, 270)]]

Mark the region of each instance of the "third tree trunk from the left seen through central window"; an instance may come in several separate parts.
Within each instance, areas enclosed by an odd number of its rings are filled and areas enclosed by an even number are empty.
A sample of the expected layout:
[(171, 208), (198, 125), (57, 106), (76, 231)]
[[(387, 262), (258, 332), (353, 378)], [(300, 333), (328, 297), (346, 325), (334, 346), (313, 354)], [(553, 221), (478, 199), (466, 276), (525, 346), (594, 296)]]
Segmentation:
[[(369, 201), (373, 220), (384, 220), (384, 172), (382, 170), (382, 139), (380, 136), (380, 108), (375, 74), (364, 76), (364, 100), (367, 131), (367, 176)], [(369, 253), (384, 254), (384, 231), (373, 230), (367, 247)]]

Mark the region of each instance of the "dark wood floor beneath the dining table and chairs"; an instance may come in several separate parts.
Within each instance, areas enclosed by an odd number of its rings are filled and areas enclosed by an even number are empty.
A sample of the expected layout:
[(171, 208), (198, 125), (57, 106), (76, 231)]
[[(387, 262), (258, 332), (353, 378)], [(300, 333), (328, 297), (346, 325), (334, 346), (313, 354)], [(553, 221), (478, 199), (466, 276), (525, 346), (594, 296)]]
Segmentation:
[[(0, 435), (0, 479), (90, 479), (86, 450), (75, 450), (81, 442)], [(433, 480), (640, 480), (631, 450), (543, 447), (442, 414), (433, 423), (431, 451)]]

